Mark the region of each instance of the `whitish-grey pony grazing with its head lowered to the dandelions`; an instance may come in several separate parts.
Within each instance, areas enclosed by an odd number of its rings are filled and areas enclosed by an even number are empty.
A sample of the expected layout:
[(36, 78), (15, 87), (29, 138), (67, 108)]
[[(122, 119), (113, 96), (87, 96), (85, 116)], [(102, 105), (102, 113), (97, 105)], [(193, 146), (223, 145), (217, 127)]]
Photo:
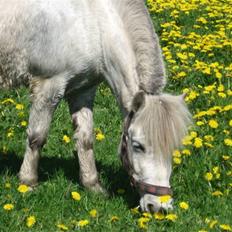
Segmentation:
[(32, 106), (20, 182), (38, 183), (53, 113), (68, 102), (81, 183), (103, 192), (93, 153), (93, 102), (105, 80), (124, 120), (123, 165), (143, 211), (172, 208), (172, 151), (190, 113), (166, 84), (159, 39), (144, 0), (0, 0), (0, 87), (29, 83)]

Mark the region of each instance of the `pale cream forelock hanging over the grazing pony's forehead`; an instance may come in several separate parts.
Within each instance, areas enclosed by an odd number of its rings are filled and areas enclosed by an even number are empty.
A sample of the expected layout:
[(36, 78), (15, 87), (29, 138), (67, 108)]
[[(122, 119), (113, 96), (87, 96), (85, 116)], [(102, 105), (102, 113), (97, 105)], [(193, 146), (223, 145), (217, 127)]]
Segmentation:
[(191, 114), (181, 98), (169, 94), (148, 96), (141, 109), (138, 123), (143, 125), (145, 137), (156, 154), (170, 156), (187, 132)]

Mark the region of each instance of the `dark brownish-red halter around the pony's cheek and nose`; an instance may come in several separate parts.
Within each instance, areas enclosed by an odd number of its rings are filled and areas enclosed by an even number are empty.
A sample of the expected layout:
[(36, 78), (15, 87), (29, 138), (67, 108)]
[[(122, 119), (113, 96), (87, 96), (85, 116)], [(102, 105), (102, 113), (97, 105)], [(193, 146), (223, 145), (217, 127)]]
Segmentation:
[(138, 181), (133, 177), (134, 170), (128, 156), (128, 137), (129, 137), (128, 129), (133, 119), (133, 116), (134, 116), (134, 112), (131, 111), (128, 114), (126, 122), (124, 124), (124, 132), (122, 135), (122, 144), (121, 144), (121, 152), (120, 152), (122, 165), (130, 176), (131, 185), (137, 188), (141, 194), (149, 193), (155, 196), (172, 195), (172, 190), (169, 187), (151, 185), (142, 181)]

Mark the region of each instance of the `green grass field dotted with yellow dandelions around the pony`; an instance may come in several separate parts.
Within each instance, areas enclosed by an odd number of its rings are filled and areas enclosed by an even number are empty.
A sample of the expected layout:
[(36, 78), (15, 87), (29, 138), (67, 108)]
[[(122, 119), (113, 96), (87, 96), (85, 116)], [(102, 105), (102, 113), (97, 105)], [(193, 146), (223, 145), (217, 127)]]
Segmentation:
[[(166, 92), (187, 93), (194, 118), (173, 153), (175, 208), (169, 217), (142, 214), (117, 156), (121, 116), (105, 84), (94, 108), (100, 178), (109, 197), (78, 181), (65, 102), (55, 113), (40, 161), (40, 185), (19, 187), (29, 93), (0, 92), (0, 231), (232, 231), (232, 7), (230, 0), (148, 0), (166, 61)], [(67, 136), (64, 139), (64, 136)], [(24, 187), (24, 189), (23, 189)], [(25, 193), (20, 191), (25, 190)], [(72, 192), (80, 194), (73, 199)], [(180, 204), (182, 203), (182, 204)]]

